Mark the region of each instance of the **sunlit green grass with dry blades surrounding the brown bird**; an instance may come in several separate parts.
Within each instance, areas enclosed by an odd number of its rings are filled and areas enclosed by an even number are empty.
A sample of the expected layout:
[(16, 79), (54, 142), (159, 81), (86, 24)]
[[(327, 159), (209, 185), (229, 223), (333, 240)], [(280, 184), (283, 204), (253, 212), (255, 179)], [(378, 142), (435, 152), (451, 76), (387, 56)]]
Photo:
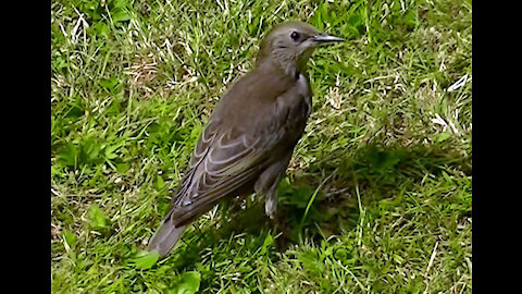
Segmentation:
[[(309, 63), (286, 234), (252, 196), (144, 255), (210, 111), (284, 20), (347, 39)], [(471, 293), (471, 0), (54, 1), (52, 292)]]

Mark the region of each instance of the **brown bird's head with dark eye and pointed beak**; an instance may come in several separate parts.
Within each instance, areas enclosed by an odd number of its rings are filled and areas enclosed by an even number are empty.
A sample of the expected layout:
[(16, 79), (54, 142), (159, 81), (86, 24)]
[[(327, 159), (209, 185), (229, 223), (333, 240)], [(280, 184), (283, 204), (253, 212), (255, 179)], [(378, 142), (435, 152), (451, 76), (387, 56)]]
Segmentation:
[(258, 53), (258, 66), (269, 62), (287, 73), (302, 72), (313, 50), (321, 44), (344, 41), (341, 38), (321, 33), (303, 22), (287, 22), (276, 25), (262, 40)]

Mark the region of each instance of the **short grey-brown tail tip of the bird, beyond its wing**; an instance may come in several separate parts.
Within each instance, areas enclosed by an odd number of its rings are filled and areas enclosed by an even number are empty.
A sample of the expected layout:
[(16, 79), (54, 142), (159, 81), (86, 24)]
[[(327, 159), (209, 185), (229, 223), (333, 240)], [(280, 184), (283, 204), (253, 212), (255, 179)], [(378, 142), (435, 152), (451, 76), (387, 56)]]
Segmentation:
[(150, 238), (149, 252), (157, 250), (164, 257), (176, 245), (187, 225), (175, 226), (171, 220), (163, 220), (156, 234)]

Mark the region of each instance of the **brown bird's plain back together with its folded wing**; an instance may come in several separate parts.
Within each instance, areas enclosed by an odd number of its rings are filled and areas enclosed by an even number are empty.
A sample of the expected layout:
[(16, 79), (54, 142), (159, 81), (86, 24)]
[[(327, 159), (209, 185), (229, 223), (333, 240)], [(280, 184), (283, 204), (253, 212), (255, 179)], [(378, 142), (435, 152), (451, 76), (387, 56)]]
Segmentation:
[(303, 75), (297, 83), (282, 81), (250, 74), (231, 86), (201, 134), (165, 221), (186, 224), (294, 148), (310, 112), (309, 84)]

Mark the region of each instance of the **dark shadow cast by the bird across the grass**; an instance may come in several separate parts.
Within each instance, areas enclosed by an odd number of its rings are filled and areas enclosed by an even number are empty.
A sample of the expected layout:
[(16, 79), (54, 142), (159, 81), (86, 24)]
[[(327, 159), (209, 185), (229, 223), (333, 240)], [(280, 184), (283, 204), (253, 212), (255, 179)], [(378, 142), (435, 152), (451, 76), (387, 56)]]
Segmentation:
[[(234, 234), (248, 234), (253, 238), (253, 244), (249, 245), (259, 247), (269, 232), (272, 235), (283, 232), (276, 240), (276, 247), (285, 250), (304, 238), (321, 240), (352, 230), (359, 220), (360, 203), (368, 206), (394, 198), (420, 184), (426, 174), (437, 176), (443, 170), (471, 174), (471, 157), (462, 157), (458, 150), (424, 146), (369, 145), (352, 154), (331, 154), (310, 164), (307, 173), (296, 176), (293, 184), (287, 179), (282, 181), (276, 229), (264, 215), (262, 203), (254, 201), (246, 209), (238, 209), (238, 204), (231, 201), (221, 209), (222, 219), (229, 221), (222, 220), (219, 229), (195, 232), (185, 250), (179, 253), (184, 257), (179, 266), (200, 260), (209, 245), (227, 242)], [(306, 215), (318, 187), (321, 188)]]

